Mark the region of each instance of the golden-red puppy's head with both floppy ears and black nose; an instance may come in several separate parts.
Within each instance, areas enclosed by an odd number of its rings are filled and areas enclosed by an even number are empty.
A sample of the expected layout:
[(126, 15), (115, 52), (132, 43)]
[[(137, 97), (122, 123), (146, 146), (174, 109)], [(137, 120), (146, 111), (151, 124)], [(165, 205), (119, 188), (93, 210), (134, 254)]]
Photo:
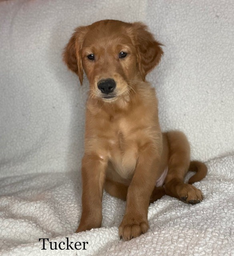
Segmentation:
[(144, 81), (162, 54), (144, 24), (101, 20), (76, 28), (63, 60), (81, 84), (85, 71), (92, 97), (112, 102), (128, 95), (134, 82)]

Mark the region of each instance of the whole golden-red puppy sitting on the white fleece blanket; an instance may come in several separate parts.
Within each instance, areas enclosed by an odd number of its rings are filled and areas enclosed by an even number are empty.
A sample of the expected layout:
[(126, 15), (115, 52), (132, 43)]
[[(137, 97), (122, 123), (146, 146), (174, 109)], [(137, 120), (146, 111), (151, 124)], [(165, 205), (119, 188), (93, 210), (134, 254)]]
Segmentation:
[[(155, 90), (145, 77), (163, 54), (144, 24), (101, 20), (76, 28), (64, 62), (90, 82), (82, 160), (82, 216), (77, 232), (102, 224), (103, 190), (126, 200), (120, 239), (130, 240), (149, 226), (148, 206), (164, 194), (196, 204), (202, 192), (191, 185), (206, 176), (190, 162), (182, 132), (162, 133)], [(196, 174), (184, 183), (188, 170)]]

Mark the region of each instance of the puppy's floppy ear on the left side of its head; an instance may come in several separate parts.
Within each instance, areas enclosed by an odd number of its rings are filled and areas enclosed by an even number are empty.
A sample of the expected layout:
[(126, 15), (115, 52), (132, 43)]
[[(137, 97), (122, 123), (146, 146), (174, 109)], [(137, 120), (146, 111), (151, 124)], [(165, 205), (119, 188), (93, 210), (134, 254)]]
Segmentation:
[(79, 76), (81, 85), (83, 82), (81, 49), (87, 31), (87, 27), (76, 28), (63, 52), (63, 61), (70, 70)]

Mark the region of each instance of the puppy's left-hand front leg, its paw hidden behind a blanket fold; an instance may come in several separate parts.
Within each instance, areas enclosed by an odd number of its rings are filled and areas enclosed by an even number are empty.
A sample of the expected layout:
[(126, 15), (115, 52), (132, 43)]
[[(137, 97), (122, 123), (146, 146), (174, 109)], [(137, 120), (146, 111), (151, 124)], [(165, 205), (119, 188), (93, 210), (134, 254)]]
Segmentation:
[(107, 161), (97, 155), (82, 159), (82, 215), (76, 232), (100, 228), (102, 224), (102, 195)]

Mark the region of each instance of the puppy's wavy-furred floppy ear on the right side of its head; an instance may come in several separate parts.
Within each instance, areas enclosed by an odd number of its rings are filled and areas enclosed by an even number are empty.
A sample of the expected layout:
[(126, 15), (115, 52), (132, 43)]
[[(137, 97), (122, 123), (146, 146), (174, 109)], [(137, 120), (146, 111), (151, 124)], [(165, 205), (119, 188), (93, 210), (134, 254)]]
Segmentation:
[(134, 44), (137, 51), (137, 62), (143, 81), (146, 75), (160, 62), (163, 51), (162, 44), (154, 39), (154, 36), (148, 32), (147, 26), (141, 22), (133, 24)]

